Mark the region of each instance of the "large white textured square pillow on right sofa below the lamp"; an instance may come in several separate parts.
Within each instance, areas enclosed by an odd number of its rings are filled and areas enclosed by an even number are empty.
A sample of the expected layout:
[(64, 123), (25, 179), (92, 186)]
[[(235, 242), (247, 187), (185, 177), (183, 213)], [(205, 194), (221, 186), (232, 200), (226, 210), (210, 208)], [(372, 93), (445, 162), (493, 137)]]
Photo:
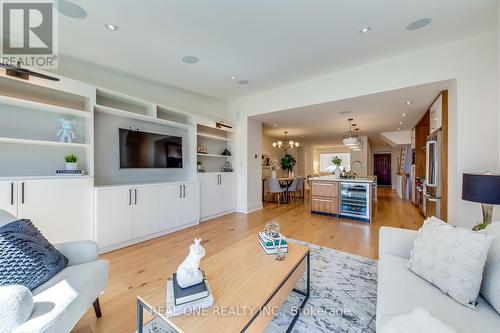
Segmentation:
[(494, 236), (428, 218), (413, 243), (408, 269), (460, 304), (475, 309)]

